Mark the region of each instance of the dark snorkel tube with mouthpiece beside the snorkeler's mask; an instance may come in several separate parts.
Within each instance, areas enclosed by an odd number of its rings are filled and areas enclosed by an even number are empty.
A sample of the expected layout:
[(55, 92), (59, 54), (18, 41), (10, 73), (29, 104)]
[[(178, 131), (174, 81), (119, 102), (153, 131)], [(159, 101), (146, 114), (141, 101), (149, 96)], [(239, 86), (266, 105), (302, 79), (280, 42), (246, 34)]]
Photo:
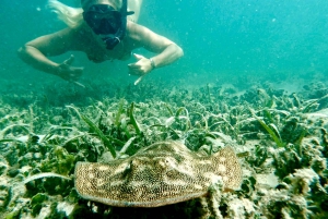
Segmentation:
[(105, 36), (102, 38), (106, 44), (107, 49), (114, 49), (114, 47), (124, 39), (127, 31), (127, 16), (133, 13), (133, 11), (128, 12), (128, 1), (122, 0), (122, 7), (120, 9), (120, 28), (118, 28), (118, 31), (114, 35)]

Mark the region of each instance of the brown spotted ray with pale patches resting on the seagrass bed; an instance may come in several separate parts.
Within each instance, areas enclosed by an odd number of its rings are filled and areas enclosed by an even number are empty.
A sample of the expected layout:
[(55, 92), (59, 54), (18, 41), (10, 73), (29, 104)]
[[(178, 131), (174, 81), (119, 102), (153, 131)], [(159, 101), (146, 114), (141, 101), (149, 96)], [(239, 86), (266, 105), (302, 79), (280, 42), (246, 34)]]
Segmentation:
[(241, 185), (231, 147), (203, 156), (180, 143), (161, 142), (108, 163), (78, 162), (75, 187), (83, 198), (110, 206), (157, 207), (204, 196), (220, 177), (224, 188)]

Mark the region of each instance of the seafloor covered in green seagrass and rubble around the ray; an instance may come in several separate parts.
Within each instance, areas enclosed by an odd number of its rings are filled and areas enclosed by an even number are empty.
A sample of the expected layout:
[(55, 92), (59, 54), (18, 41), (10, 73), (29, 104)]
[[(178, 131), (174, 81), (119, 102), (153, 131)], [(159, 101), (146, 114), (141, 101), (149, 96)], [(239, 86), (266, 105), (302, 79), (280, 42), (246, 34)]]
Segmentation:
[[(328, 218), (328, 87), (274, 87), (9, 83), (0, 99), (0, 218)], [(78, 161), (168, 139), (209, 155), (235, 149), (243, 183), (221, 194), (220, 215), (207, 215), (198, 198), (119, 208), (78, 196)]]

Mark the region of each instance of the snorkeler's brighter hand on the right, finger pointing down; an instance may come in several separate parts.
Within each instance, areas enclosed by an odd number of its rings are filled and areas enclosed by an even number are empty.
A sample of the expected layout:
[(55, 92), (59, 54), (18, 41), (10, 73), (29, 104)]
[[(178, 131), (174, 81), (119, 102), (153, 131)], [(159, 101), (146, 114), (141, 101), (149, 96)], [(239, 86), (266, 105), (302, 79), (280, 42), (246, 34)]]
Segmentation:
[(139, 78), (134, 82), (134, 85), (139, 84), (144, 75), (153, 70), (152, 63), (149, 59), (141, 54), (133, 53), (133, 57), (138, 60), (134, 63), (128, 64), (129, 74), (137, 75)]

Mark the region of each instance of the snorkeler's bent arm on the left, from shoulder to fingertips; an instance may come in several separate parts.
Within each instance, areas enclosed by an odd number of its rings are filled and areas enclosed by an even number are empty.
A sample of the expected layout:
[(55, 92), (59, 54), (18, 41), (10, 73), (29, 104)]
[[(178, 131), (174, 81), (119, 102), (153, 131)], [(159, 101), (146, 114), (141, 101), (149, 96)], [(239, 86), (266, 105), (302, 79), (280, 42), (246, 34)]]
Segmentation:
[(19, 49), (19, 57), (33, 68), (62, 77), (63, 80), (77, 80), (81, 74), (81, 68), (70, 66), (72, 58), (62, 63), (56, 63), (47, 57), (62, 54), (73, 48), (72, 29), (66, 28), (60, 32), (38, 37), (26, 42)]

